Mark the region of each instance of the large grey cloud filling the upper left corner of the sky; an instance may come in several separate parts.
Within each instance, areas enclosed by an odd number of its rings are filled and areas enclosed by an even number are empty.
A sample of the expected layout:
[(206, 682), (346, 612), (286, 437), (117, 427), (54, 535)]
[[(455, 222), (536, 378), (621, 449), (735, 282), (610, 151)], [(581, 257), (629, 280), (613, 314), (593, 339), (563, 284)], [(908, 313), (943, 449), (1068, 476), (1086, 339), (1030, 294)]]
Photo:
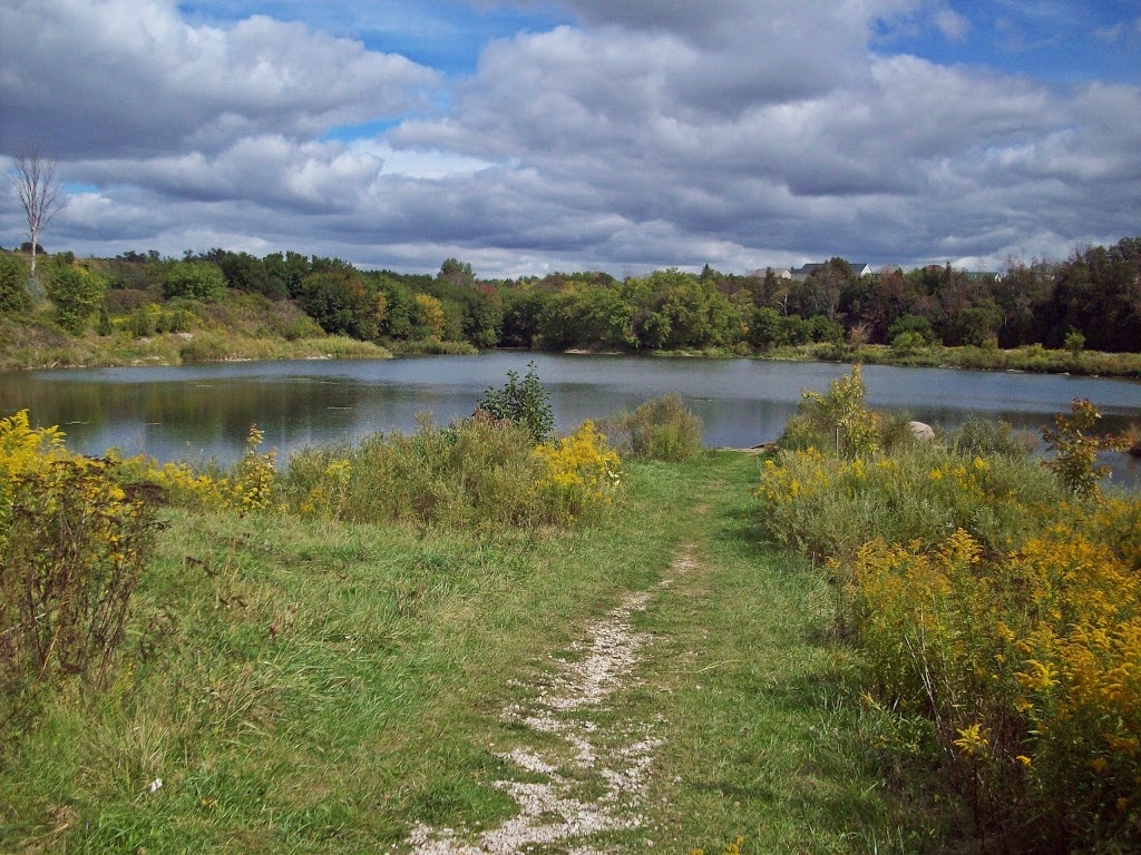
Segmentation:
[(440, 82), (301, 24), (191, 26), (164, 0), (13, 0), (0, 7), (0, 147), (57, 157), (310, 137), (422, 107)]

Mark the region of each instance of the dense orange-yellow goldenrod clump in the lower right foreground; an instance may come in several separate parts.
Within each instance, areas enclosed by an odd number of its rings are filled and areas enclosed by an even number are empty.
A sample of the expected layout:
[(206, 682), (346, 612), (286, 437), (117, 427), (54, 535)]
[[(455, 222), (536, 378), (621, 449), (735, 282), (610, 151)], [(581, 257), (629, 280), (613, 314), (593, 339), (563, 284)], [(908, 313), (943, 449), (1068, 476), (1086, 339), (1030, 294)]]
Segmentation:
[(934, 725), (979, 831), (1022, 850), (1136, 840), (1141, 577), (1057, 526), (986, 557), (873, 543), (855, 563), (882, 700)]

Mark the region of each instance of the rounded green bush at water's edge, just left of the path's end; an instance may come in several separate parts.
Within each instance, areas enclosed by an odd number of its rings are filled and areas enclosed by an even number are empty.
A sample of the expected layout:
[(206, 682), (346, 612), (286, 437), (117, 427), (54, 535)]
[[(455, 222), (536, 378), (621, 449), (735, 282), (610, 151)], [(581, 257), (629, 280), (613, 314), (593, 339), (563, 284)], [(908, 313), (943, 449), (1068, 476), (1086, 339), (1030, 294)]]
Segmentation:
[(686, 409), (680, 394), (646, 401), (633, 413), (605, 420), (602, 430), (625, 457), (691, 461), (702, 454), (702, 420)]

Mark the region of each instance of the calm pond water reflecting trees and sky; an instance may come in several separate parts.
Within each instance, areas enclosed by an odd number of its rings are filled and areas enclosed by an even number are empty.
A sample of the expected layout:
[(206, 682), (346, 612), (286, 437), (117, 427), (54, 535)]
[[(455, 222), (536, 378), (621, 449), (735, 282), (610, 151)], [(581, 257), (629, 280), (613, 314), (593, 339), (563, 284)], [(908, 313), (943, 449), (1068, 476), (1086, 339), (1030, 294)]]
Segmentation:
[[(70, 446), (98, 455), (118, 447), (160, 461), (229, 462), (251, 424), (282, 457), (307, 443), (351, 441), (374, 431), (411, 431), (418, 413), (437, 422), (471, 414), (488, 386), (534, 359), (551, 393), (556, 426), (632, 409), (679, 392), (705, 422), (710, 446), (776, 439), (802, 389), (827, 391), (844, 365), (748, 359), (662, 359), (531, 355), (366, 361), (228, 363), (0, 374), (0, 414), (29, 409), (58, 424)], [(971, 414), (1038, 432), (1074, 398), (1090, 398), (1107, 430), (1141, 421), (1141, 384), (1123, 380), (866, 366), (868, 402), (948, 427)], [(1138, 461), (1114, 455), (1115, 478), (1141, 482)]]

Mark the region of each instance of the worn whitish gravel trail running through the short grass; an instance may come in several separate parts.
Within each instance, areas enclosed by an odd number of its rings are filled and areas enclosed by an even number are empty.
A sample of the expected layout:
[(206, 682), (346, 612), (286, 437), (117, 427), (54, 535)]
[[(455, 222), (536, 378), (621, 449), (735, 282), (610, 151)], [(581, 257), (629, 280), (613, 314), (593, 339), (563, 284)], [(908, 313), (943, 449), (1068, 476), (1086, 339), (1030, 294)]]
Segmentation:
[[(661, 583), (694, 568), (693, 548), (686, 547)], [(642, 826), (639, 813), (649, 785), (655, 722), (620, 720), (605, 727), (597, 722), (607, 700), (636, 684), (640, 653), (652, 641), (638, 633), (631, 616), (645, 610), (654, 592), (628, 594), (622, 604), (586, 628), (586, 640), (572, 648), (581, 659), (555, 659), (553, 677), (524, 684), (529, 700), (512, 703), (504, 722), (521, 724), (535, 734), (532, 744), (497, 755), (521, 779), (493, 785), (519, 805), (518, 815), (482, 831), (416, 826), (407, 845), (430, 855), (517, 855), (536, 846), (565, 844), (570, 855), (596, 855), (591, 838), (608, 831)], [(553, 739), (552, 739), (553, 738)], [(526, 742), (526, 738), (524, 739)]]

